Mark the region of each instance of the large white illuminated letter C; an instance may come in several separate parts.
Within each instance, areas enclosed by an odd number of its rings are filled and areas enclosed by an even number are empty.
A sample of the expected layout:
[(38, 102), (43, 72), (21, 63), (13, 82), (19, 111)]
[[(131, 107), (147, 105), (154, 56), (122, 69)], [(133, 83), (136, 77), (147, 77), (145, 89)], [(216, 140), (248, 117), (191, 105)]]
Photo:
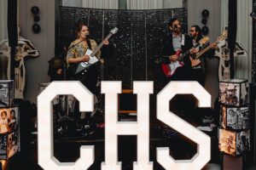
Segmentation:
[(45, 170), (84, 170), (94, 162), (94, 146), (82, 146), (76, 162), (61, 163), (54, 157), (51, 100), (72, 94), (80, 102), (80, 111), (93, 111), (93, 95), (81, 82), (51, 82), (38, 95), (38, 164)]

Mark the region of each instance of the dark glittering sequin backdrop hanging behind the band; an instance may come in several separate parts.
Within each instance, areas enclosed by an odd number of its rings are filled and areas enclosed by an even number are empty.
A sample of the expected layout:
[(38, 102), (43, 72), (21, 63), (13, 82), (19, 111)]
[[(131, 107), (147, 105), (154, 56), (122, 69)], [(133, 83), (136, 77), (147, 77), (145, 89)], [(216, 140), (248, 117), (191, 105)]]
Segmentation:
[(161, 87), (160, 66), (155, 62), (162, 37), (167, 33), (167, 23), (177, 17), (187, 32), (187, 11), (184, 8), (158, 10), (105, 10), (61, 7), (60, 46), (75, 39), (77, 23), (90, 27), (90, 37), (96, 42), (108, 35), (113, 27), (117, 34), (110, 38), (111, 53), (102, 69), (103, 80), (122, 81), (123, 88), (132, 88), (132, 81), (154, 81), (154, 89)]

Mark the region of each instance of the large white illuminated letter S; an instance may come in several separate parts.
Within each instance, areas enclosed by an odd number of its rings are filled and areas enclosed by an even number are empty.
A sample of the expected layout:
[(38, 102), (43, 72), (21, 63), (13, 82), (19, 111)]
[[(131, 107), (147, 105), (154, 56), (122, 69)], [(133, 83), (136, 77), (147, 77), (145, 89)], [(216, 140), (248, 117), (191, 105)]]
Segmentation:
[(169, 148), (157, 148), (157, 161), (166, 170), (200, 170), (211, 159), (211, 139), (169, 111), (169, 101), (176, 94), (193, 94), (200, 107), (211, 107), (211, 95), (198, 82), (169, 82), (157, 94), (157, 118), (198, 144), (197, 154), (191, 160), (176, 161), (169, 156)]

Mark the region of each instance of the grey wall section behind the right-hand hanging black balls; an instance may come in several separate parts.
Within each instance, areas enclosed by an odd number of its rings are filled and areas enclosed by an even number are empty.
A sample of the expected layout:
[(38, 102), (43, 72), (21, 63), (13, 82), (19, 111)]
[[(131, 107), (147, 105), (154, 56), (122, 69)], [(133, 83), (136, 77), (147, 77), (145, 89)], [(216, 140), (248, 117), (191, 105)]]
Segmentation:
[[(221, 33), (220, 14), (221, 0), (188, 0), (188, 22), (189, 26), (201, 24), (201, 11), (208, 9), (210, 14), (207, 19), (209, 37), (215, 41)], [(228, 10), (228, 8), (226, 9)], [(207, 59), (207, 91), (212, 94), (212, 106), (214, 99), (218, 96), (218, 59)]]

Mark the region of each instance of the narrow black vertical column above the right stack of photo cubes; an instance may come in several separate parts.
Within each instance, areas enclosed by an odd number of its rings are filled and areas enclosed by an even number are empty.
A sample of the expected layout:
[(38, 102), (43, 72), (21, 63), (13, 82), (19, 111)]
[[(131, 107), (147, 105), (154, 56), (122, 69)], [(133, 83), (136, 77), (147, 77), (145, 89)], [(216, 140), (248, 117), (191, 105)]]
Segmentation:
[(229, 0), (229, 48), (230, 48), (230, 78), (234, 78), (234, 49), (236, 47), (237, 30), (237, 0)]

